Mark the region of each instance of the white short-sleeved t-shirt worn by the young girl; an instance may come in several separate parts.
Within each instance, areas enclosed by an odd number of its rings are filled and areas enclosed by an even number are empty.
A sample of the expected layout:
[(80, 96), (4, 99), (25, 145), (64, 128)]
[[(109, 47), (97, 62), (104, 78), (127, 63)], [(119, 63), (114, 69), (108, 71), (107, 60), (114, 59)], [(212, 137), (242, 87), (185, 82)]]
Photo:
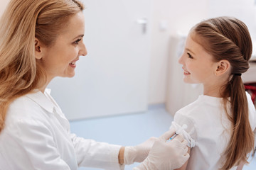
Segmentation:
[[(250, 95), (247, 93), (246, 95), (250, 125), (252, 130), (255, 130), (255, 106)], [(216, 170), (223, 166), (225, 158), (221, 155), (228, 145), (232, 131), (222, 100), (222, 98), (201, 95), (174, 115), (171, 128), (177, 130), (183, 124), (188, 125), (186, 132), (183, 132), (183, 136), (188, 140), (188, 146), (191, 147), (188, 170)]]

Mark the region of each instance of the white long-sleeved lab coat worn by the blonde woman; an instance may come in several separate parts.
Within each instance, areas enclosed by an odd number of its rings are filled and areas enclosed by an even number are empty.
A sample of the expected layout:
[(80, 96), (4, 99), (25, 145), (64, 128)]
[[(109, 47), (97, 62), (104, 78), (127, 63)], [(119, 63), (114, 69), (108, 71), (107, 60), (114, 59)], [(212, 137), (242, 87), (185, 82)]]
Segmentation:
[[(72, 107), (72, 106), (70, 106)], [(78, 166), (124, 169), (121, 146), (85, 140), (70, 133), (70, 124), (50, 96), (33, 91), (17, 98), (0, 133), (0, 169), (78, 169)]]

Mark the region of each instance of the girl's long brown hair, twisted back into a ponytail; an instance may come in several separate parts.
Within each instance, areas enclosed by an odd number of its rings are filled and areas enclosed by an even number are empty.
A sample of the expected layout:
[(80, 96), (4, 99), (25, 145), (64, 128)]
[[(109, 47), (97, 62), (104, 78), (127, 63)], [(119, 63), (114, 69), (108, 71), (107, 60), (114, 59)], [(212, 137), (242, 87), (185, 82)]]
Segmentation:
[[(196, 41), (213, 55), (216, 62), (228, 60), (231, 65), (230, 79), (220, 91), (233, 128), (222, 169), (231, 169), (240, 162), (247, 162), (247, 154), (254, 148), (245, 87), (239, 76), (249, 69), (248, 60), (252, 55), (250, 33), (245, 23), (230, 17), (210, 18), (198, 23), (191, 31), (198, 35)], [(227, 111), (228, 102), (231, 114)]]

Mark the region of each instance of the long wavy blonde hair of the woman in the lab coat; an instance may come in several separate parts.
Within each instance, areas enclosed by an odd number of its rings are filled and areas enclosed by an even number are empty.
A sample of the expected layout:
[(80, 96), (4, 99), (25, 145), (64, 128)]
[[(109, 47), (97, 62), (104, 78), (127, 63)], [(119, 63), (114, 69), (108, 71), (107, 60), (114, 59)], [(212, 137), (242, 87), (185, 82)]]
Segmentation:
[(35, 38), (52, 45), (69, 17), (83, 9), (76, 0), (10, 1), (0, 21), (0, 132), (10, 103), (46, 84)]

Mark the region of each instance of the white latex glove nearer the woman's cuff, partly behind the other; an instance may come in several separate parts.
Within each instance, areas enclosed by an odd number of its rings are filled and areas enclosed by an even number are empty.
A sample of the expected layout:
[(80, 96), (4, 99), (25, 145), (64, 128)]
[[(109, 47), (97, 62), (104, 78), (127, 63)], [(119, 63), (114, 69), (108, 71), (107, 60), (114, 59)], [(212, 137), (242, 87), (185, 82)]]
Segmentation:
[(149, 150), (157, 137), (150, 137), (149, 140), (135, 147), (124, 148), (124, 164), (133, 164), (134, 162), (143, 162), (149, 154)]

